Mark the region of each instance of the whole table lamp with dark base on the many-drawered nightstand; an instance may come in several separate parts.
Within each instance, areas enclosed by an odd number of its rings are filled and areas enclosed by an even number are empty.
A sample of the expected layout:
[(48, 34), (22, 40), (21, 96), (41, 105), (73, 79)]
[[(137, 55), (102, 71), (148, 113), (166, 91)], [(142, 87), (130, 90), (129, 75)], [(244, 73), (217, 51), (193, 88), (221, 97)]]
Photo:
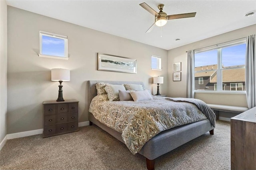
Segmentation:
[(62, 82), (70, 81), (70, 70), (64, 69), (64, 68), (52, 68), (51, 70), (52, 75), (52, 81), (58, 81), (60, 82), (59, 85), (59, 96), (56, 100), (57, 102), (63, 102), (63, 96), (62, 96)]

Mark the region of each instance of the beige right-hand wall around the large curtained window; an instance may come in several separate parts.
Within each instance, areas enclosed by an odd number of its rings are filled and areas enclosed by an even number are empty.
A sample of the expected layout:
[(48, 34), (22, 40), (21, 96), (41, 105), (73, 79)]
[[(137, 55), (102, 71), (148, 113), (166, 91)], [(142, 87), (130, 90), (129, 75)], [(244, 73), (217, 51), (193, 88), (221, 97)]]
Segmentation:
[[(168, 96), (170, 97), (187, 97), (187, 53), (188, 50), (199, 49), (218, 43), (224, 43), (234, 39), (239, 39), (256, 33), (256, 24), (221, 35), (217, 35), (202, 41), (197, 41), (182, 47), (171, 49), (168, 51), (168, 79), (169, 84)], [(172, 81), (172, 64), (182, 62), (182, 81)], [(247, 107), (245, 94), (211, 94), (211, 93), (197, 93), (195, 98), (201, 99), (206, 103), (224, 104), (231, 106)]]

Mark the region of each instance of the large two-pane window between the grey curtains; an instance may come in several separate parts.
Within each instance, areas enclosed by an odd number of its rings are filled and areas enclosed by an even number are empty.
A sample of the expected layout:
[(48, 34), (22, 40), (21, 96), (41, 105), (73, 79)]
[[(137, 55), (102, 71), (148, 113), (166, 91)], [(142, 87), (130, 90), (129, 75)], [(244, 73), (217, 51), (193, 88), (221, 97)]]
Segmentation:
[(244, 91), (246, 43), (242, 39), (195, 52), (195, 90)]

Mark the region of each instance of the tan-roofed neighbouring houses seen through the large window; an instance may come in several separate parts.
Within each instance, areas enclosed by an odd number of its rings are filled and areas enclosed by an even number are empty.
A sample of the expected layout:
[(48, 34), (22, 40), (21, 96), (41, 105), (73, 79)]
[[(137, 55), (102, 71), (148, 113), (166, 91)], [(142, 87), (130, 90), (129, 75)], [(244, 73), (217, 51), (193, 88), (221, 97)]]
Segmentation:
[[(245, 90), (243, 66), (231, 66), (222, 70), (222, 90)], [(217, 68), (217, 64), (195, 67), (195, 90), (217, 90)]]

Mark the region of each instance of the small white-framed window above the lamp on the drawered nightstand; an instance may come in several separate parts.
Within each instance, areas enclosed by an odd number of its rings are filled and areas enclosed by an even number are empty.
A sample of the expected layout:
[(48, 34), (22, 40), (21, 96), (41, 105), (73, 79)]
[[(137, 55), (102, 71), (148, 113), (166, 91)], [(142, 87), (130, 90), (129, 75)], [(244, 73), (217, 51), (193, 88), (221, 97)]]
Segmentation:
[(68, 59), (68, 37), (40, 31), (40, 57)]

